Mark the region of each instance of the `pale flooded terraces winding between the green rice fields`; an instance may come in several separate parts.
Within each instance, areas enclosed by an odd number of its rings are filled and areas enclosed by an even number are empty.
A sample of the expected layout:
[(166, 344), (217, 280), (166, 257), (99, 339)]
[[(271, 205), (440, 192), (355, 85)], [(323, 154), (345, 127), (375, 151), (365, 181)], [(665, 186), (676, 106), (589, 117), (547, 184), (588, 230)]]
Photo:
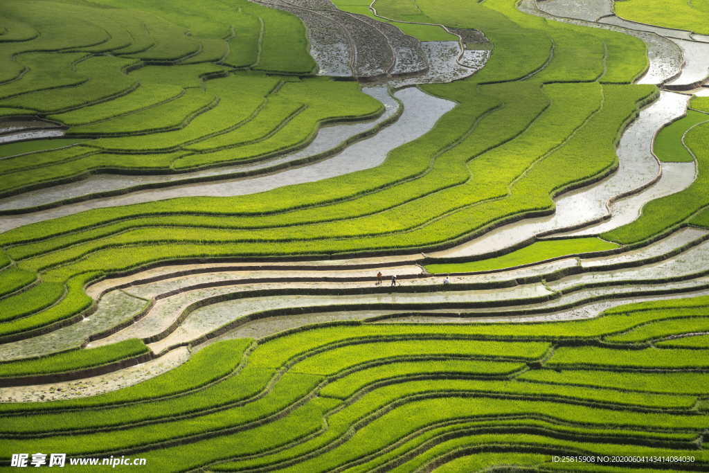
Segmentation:
[[(384, 113), (365, 123), (320, 128), (305, 148), (264, 162), (181, 174), (96, 174), (9, 196), (0, 199), (0, 231), (93, 208), (176, 196), (253, 194), (379, 166), (390, 150), (425, 134), (455, 105), (411, 86), (467, 77), (489, 56), (487, 51), (465, 50), (462, 38), (412, 41), (387, 23), (330, 8), (329, 2), (318, 9), (298, 2), (266, 4), (303, 20), (320, 74), (365, 81), (363, 91), (384, 105)], [(701, 86), (709, 76), (709, 38), (625, 21), (613, 15), (610, 0), (523, 0), (519, 9), (554, 21), (622, 31), (647, 45), (649, 68), (637, 82), (657, 84), (661, 93), (625, 128), (616, 172), (557, 196), (552, 215), (499, 226), (445, 250), (343, 260), (162, 265), (104, 279), (87, 288), (97, 305), (83, 321), (0, 345), (0, 360), (130, 338), (144, 340), (152, 359), (80, 380), (0, 388), (0, 401), (113, 391), (167, 372), (218, 340), (264, 338), (303, 325), (576, 320), (629, 302), (709, 294), (709, 232), (691, 227), (642, 247), (452, 274), (445, 291), (440, 290), (442, 276), (425, 271), (423, 265), (437, 258), (485, 257), (545, 239), (598, 235), (634, 221), (649, 201), (682, 191), (696, 179), (696, 162), (659, 162), (652, 143), (659, 130), (686, 114), (691, 94), (708, 95)], [(61, 134), (48, 123), (16, 123), (0, 129), (0, 141)], [(384, 275), (381, 286), (374, 285), (377, 272)], [(392, 290), (389, 279), (394, 274), (399, 286)]]

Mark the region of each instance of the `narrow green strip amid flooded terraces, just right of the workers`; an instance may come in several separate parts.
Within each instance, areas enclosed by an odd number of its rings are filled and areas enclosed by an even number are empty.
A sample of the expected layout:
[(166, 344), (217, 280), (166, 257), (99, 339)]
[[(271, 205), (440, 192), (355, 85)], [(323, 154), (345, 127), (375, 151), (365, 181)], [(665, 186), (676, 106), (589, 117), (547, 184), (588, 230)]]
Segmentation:
[(543, 240), (520, 248), (506, 255), (489, 258), (486, 260), (441, 263), (426, 265), (426, 271), (433, 274), (451, 272), (480, 272), (493, 269), (503, 269), (530, 263), (550, 260), (566, 255), (578, 255), (587, 252), (612, 250), (617, 248), (615, 243), (609, 243), (600, 238), (573, 238), (569, 240)]

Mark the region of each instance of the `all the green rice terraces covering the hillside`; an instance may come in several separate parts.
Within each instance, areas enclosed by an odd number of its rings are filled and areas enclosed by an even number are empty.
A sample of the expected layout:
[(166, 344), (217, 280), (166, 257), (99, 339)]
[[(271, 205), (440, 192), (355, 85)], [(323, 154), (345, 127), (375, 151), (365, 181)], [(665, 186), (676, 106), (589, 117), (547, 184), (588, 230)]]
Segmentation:
[[(660, 3), (617, 2), (615, 11), (632, 21), (709, 33), (703, 2)], [(458, 39), (442, 26), (474, 28), (489, 38), (483, 49), (491, 55), (469, 77), (419, 85), (454, 108), (420, 138), (389, 150), (377, 167), (239, 196), (86, 206), (0, 233), (0, 344), (24, 350), (91, 321), (96, 300), (87, 286), (125, 277), (119, 290), (133, 297), (130, 278), (153, 267), (413, 259), (505, 223), (548, 215), (555, 196), (618, 168), (621, 133), (659, 94), (655, 86), (634, 84), (648, 67), (640, 39), (532, 16), (513, 0), (333, 4), (421, 41)], [(267, 169), (273, 158), (313, 143), (324, 127), (381, 116), (384, 106), (362, 91), (377, 84), (316, 75), (308, 38), (298, 17), (247, 0), (5, 0), (0, 116), (41, 118), (65, 135), (0, 144), (0, 199), (96, 176), (245, 163)], [(709, 228), (708, 111), (706, 99), (693, 99), (687, 115), (654, 141), (659, 160), (696, 162), (696, 181), (650, 201), (632, 223), (588, 238), (509, 247), (484, 259), (416, 263), (433, 274), (494, 273), (642, 250), (681, 228)], [(0, 223), (65, 204), (0, 209)], [(307, 261), (303, 271), (312, 272)], [(296, 294), (288, 310), (297, 313), (299, 289), (268, 290)], [(333, 305), (338, 294), (369, 292), (323, 289)], [(645, 460), (552, 461), (577, 455), (691, 458), (660, 466), (703, 471), (709, 469), (709, 300), (685, 296), (619, 301), (576, 321), (355, 318), (262, 337), (215, 341), (218, 335), (208, 333), (199, 343), (181, 343), (189, 360), (160, 375), (94, 396), (46, 401), (10, 401), (5, 393), (11, 391), (3, 390), (81, 381), (160, 359), (162, 352), (150, 337), (96, 347), (86, 347), (86, 338), (75, 343), (80, 348), (0, 359), (0, 386), (7, 386), (0, 387), (6, 395), (0, 469), (12, 468), (14, 453), (65, 452), (143, 457), (155, 472), (658, 468)], [(226, 299), (248, 297), (235, 292)], [(382, 290), (377, 303), (386, 297)], [(145, 309), (128, 323), (141, 323), (160, 304), (160, 298), (134, 299)], [(126, 314), (115, 310), (105, 321), (107, 333), (125, 325)]]

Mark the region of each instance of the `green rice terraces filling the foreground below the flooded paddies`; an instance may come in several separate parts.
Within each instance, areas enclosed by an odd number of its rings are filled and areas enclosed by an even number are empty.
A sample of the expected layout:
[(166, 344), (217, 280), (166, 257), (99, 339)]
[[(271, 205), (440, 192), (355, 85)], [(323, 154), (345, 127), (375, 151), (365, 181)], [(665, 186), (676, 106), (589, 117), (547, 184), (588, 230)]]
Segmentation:
[[(618, 449), (615, 443), (597, 442), (588, 437), (601, 435), (609, 439), (630, 439), (623, 443), (630, 442), (628, 448), (632, 446), (637, 455), (640, 455), (637, 452), (652, 454), (657, 450), (681, 452), (676, 447), (647, 446), (643, 439), (674, 439), (690, 445), (688, 441), (705, 425), (705, 415), (693, 411), (696, 394), (704, 392), (705, 374), (590, 372), (585, 369), (566, 369), (559, 373), (534, 368), (520, 375), (517, 373), (523, 365), (505, 360), (510, 356), (540, 357), (543, 354), (547, 344), (530, 341), (533, 337), (528, 333), (532, 329), (541, 337), (555, 333), (554, 328), (561, 328), (562, 333), (569, 334), (565, 336), (594, 338), (597, 333), (614, 333), (620, 325), (642, 324), (643, 317), (646, 320), (661, 317), (659, 312), (664, 312), (666, 318), (689, 307), (695, 307), (692, 309), (695, 311), (705, 308), (702, 305), (705, 299), (671, 301), (676, 303), (676, 308), (669, 306), (670, 301), (635, 304), (617, 308), (614, 315), (597, 320), (535, 325), (340, 324), (278, 335), (262, 340), (247, 353), (244, 350), (252, 340), (230, 340), (198, 352), (182, 367), (144, 384), (96, 396), (85, 403), (53, 401), (46, 404), (46, 408), (45, 404), (36, 403), (5, 404), (4, 413), (0, 415), (4, 432), (22, 432), (27, 437), (8, 439), (9, 447), (14, 449), (31, 441), (45, 450), (62, 449), (82, 455), (193, 435), (192, 440), (179, 447), (157, 444), (147, 447), (143, 455), (163, 465), (161, 471), (172, 470), (177, 464), (199, 467), (257, 452), (265, 455), (245, 457), (217, 469), (262, 467), (308, 452), (318, 452), (318, 455), (310, 460), (298, 458), (291, 468), (298, 471), (332, 469), (358, 458), (381, 464), (450, 429), (478, 426), (496, 428), (496, 432), (515, 426), (536, 429), (535, 434), (525, 431), (514, 434), (514, 438), (542, 435), (539, 445), (569, 446), (583, 441), (588, 448), (602, 453)], [(649, 306), (657, 308), (658, 313), (649, 310)], [(625, 316), (630, 311), (634, 311), (633, 317)], [(597, 332), (590, 329), (594, 323)], [(545, 334), (545, 328), (547, 332), (552, 331)], [(459, 338), (474, 334), (493, 336), (496, 340), (463, 341)], [(517, 341), (517, 337), (525, 341)], [(130, 343), (139, 342), (130, 340)], [(355, 350), (357, 347), (359, 350)], [(104, 349), (108, 347), (96, 350)], [(688, 352), (696, 358), (696, 350), (666, 348), (661, 350), (661, 357), (654, 353), (647, 355), (647, 350), (562, 346), (557, 347), (549, 364), (558, 360), (610, 360), (616, 366), (633, 367), (639, 362), (644, 365), (646, 360), (655, 360), (655, 364), (660, 360), (663, 365), (671, 360), (669, 365), (677, 366), (686, 360)], [(70, 353), (77, 352), (54, 356)], [(445, 353), (450, 358), (430, 358)], [(400, 354), (406, 356), (397, 358)], [(485, 355), (490, 361), (470, 360), (470, 355)], [(409, 360), (411, 356), (422, 358), (413, 361)], [(245, 362), (245, 368), (235, 371), (240, 362)], [(214, 369), (206, 369), (214, 363), (217, 364)], [(273, 378), (274, 369), (278, 368), (284, 369), (285, 374)], [(490, 375), (498, 379), (485, 379)], [(269, 382), (271, 379), (274, 381)], [(321, 384), (323, 381), (327, 384)], [(320, 389), (316, 388), (318, 385), (323, 386), (320, 391), (323, 396), (341, 396), (344, 402), (316, 396), (308, 398), (302, 407), (283, 411), (284, 416), (269, 417), (308, 396), (313, 389)], [(678, 385), (682, 386), (679, 390)], [(255, 396), (259, 392), (263, 395)], [(353, 396), (356, 392), (359, 395)], [(137, 400), (140, 402), (135, 404)], [(77, 406), (82, 406), (82, 416), (72, 411)], [(521, 422), (513, 420), (529, 412), (535, 413), (532, 418)], [(325, 418), (327, 421), (323, 423)], [(257, 419), (269, 420), (250, 424)], [(358, 421), (363, 422), (356, 424)], [(357, 427), (352, 428), (355, 424)], [(245, 428), (235, 433), (220, 430), (239, 425)], [(274, 435), (284, 432), (289, 425), (298, 425), (288, 430), (289, 437)], [(101, 432), (86, 430), (99, 427)], [(348, 430), (352, 435), (342, 437)], [(73, 434), (44, 435), (52, 432)], [(482, 430), (476, 435), (493, 433), (486, 432)], [(562, 435), (549, 435), (550, 432)], [(411, 435), (413, 433), (416, 435)], [(254, 435), (262, 435), (262, 440), (248, 442)], [(311, 436), (303, 438), (304, 435)], [(301, 440), (269, 450), (277, 447), (279, 441), (297, 438)], [(393, 445), (393, 450), (368, 457), (402, 438), (405, 441)], [(470, 440), (464, 445), (471, 445)], [(198, 450), (202, 453), (195, 455)], [(428, 461), (427, 455), (417, 456), (415, 461)]]

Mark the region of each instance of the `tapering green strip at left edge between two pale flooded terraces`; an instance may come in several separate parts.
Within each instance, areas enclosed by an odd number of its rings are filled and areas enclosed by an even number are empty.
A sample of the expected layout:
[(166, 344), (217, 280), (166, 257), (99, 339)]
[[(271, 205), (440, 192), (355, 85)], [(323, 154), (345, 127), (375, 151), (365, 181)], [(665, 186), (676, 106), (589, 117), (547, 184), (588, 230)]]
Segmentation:
[(118, 360), (127, 360), (150, 351), (138, 339), (125, 340), (114, 345), (86, 348), (48, 355), (36, 360), (18, 360), (0, 363), (0, 377), (55, 374), (77, 369), (106, 365)]

